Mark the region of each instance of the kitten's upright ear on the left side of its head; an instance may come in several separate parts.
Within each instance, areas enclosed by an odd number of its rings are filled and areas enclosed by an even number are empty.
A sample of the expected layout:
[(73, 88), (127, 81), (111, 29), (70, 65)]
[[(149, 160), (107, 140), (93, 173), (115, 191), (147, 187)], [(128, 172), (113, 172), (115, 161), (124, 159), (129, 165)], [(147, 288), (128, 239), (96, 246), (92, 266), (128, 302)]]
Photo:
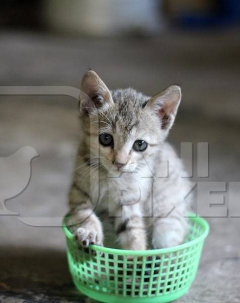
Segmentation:
[(89, 115), (106, 104), (113, 103), (111, 93), (98, 74), (87, 71), (81, 82), (80, 113)]

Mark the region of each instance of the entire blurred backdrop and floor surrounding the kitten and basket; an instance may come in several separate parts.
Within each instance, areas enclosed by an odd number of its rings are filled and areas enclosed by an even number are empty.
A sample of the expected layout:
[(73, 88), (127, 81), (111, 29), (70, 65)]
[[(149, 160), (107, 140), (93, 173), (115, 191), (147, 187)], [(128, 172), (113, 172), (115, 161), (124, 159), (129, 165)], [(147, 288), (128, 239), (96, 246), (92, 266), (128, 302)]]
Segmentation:
[[(192, 180), (240, 181), (237, 0), (2, 0), (0, 67), (2, 87), (79, 88), (89, 68), (111, 89), (152, 95), (177, 83), (183, 100), (169, 140), (178, 152), (181, 142), (193, 142)], [(61, 227), (26, 224), (60, 222), (68, 210), (77, 113), (72, 97), (6, 95), (0, 87), (0, 156), (26, 145), (39, 154), (26, 190), (6, 200), (16, 215), (0, 216), (1, 302), (85, 301), (68, 274)], [(209, 143), (207, 178), (197, 177), (197, 142)], [(227, 186), (222, 194), (227, 207)], [(231, 214), (239, 216), (233, 196)], [(240, 219), (208, 221), (199, 274), (178, 301), (240, 302)]]

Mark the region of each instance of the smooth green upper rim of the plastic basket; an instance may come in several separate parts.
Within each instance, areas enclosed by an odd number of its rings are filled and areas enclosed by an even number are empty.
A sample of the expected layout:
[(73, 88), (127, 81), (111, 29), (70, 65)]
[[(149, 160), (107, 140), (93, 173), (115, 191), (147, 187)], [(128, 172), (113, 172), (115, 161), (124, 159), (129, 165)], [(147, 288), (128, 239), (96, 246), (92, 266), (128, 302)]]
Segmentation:
[[(68, 239), (74, 240), (75, 239), (74, 235), (68, 229), (68, 226), (70, 226), (70, 224), (67, 225), (67, 219), (68, 219), (69, 215), (70, 215), (70, 213), (67, 213), (67, 215), (64, 217), (63, 231)], [(168, 248), (146, 249), (146, 250), (127, 250), (127, 249), (121, 249), (121, 248), (111, 248), (111, 247), (106, 247), (106, 246), (99, 246), (99, 245), (95, 245), (95, 244), (90, 245), (90, 247), (92, 249), (100, 251), (100, 252), (108, 252), (109, 254), (113, 254), (113, 255), (116, 254), (116, 255), (127, 255), (127, 256), (162, 255), (162, 254), (166, 254), (169, 252), (185, 249), (187, 247), (193, 246), (194, 244), (197, 244), (197, 243), (203, 241), (209, 233), (209, 224), (205, 219), (203, 219), (202, 217), (199, 217), (197, 214), (194, 214), (194, 213), (190, 213), (188, 215), (188, 218), (190, 220), (192, 220), (193, 222), (196, 222), (197, 224), (201, 225), (201, 227), (203, 228), (204, 231), (199, 237), (197, 237), (189, 242), (180, 244), (180, 245), (176, 245), (176, 246), (172, 246), (172, 247), (168, 247)]]

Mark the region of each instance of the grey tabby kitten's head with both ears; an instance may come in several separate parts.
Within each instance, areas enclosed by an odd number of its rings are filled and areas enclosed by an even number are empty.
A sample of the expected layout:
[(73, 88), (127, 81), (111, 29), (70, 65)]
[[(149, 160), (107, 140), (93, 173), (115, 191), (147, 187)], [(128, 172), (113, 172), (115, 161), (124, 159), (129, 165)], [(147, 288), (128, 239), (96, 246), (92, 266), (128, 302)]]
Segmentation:
[(99, 161), (111, 172), (141, 171), (159, 153), (180, 100), (177, 85), (148, 97), (132, 88), (110, 91), (94, 71), (86, 72), (80, 118), (89, 163)]

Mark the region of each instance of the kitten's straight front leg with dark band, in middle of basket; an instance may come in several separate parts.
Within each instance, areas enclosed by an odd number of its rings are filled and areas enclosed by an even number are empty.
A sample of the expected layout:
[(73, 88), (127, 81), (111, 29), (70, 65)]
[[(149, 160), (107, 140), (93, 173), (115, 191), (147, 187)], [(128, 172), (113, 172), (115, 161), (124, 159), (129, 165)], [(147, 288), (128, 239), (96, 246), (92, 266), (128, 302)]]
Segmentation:
[(146, 228), (137, 208), (122, 206), (122, 216), (115, 218), (115, 231), (123, 249), (146, 249)]

